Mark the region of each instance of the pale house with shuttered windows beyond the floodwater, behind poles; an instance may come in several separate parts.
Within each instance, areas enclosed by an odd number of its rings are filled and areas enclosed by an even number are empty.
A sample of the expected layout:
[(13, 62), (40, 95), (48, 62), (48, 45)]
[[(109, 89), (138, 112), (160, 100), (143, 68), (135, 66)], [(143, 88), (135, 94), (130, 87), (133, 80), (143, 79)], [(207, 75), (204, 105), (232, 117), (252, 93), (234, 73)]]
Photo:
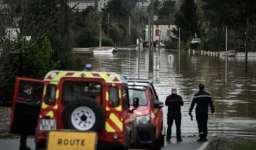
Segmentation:
[[(145, 41), (149, 42), (149, 29), (148, 25), (146, 25), (146, 37)], [(159, 38), (162, 41), (171, 40), (171, 37), (176, 38), (172, 30), (176, 28), (176, 25), (166, 25), (166, 24), (156, 24), (154, 25), (154, 42), (158, 43)]]

